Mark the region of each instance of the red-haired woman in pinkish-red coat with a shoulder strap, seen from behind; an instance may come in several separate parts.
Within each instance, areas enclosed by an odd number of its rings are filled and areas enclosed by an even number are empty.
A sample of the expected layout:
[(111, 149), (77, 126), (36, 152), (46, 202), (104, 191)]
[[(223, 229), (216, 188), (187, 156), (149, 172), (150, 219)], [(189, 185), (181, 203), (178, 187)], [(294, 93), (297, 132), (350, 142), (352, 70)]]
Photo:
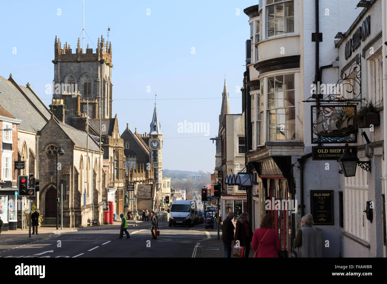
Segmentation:
[(260, 228), (254, 231), (251, 247), (255, 252), (258, 249), (258, 257), (278, 257), (278, 253), (281, 251), (281, 240), (278, 232), (273, 229), (274, 224), (274, 216), (266, 214), (262, 219)]

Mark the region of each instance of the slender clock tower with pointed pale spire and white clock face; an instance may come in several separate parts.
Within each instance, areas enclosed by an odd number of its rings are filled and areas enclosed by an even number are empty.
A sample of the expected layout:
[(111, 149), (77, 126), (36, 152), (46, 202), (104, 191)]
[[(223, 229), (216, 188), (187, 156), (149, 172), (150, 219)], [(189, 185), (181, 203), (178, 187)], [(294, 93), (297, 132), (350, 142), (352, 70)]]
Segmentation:
[(156, 103), (154, 104), (153, 117), (149, 131), (149, 162), (153, 164), (154, 176), (156, 177), (157, 189), (163, 183), (163, 133), (161, 123), (157, 114)]

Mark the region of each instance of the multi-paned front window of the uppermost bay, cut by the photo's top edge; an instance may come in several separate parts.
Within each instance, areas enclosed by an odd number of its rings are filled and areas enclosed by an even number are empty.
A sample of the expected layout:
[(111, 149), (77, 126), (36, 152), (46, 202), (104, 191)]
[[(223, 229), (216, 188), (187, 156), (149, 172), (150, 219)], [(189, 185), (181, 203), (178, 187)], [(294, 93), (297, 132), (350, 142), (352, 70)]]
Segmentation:
[(266, 0), (267, 36), (294, 32), (294, 1)]

